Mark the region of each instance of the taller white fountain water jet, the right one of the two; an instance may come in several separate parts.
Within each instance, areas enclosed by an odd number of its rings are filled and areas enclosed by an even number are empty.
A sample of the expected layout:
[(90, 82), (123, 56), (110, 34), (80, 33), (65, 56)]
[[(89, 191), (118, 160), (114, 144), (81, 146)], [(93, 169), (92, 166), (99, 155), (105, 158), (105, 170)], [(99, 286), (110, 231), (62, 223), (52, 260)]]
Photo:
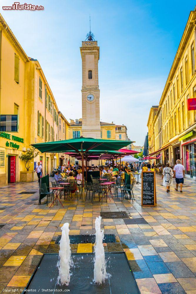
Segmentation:
[(94, 283), (101, 284), (105, 282), (105, 279), (108, 278), (106, 272), (106, 261), (105, 261), (105, 251), (103, 247), (103, 238), (104, 232), (101, 231), (101, 216), (95, 220), (95, 258), (94, 258)]

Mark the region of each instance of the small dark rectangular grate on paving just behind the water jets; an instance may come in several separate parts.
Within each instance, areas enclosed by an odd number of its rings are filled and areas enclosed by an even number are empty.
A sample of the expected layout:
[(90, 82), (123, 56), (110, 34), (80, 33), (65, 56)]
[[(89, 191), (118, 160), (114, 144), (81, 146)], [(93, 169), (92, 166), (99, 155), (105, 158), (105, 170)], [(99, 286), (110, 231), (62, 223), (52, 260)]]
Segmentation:
[[(59, 244), (61, 240), (61, 235), (56, 239), (55, 244)], [(95, 235), (69, 235), (70, 244), (80, 244), (80, 243), (95, 243)], [(105, 234), (103, 243), (115, 243), (114, 234)]]

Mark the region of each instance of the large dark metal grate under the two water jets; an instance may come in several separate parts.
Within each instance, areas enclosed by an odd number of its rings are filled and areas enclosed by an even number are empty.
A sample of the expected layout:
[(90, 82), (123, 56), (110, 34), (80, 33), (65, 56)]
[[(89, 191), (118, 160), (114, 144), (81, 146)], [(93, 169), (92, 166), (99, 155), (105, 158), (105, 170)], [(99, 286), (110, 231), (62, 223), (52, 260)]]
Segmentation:
[[(71, 268), (71, 279), (68, 286), (58, 285), (58, 254), (44, 254), (41, 262), (33, 273), (26, 290), (29, 292), (39, 289), (51, 293), (67, 292), (73, 294), (139, 294), (137, 284), (124, 252), (105, 253), (107, 272), (110, 274), (105, 283), (93, 283), (94, 254), (71, 254), (74, 267)], [(119, 275), (120, 273), (120, 275)], [(23, 293), (26, 293), (24, 291)]]

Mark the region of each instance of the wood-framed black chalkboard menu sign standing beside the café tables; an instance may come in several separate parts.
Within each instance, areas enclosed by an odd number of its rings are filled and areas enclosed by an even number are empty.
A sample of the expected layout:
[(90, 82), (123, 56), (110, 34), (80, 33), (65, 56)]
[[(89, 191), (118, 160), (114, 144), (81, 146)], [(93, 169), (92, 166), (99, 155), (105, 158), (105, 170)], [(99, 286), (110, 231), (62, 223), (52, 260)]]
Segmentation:
[(142, 172), (142, 206), (156, 205), (155, 171)]

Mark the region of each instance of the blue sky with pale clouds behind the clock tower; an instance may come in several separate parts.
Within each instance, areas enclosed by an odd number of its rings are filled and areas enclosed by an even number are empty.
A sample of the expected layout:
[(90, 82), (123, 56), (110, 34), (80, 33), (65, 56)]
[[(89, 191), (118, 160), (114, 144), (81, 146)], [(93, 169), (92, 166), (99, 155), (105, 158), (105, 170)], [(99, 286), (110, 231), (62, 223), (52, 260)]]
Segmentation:
[[(38, 59), (61, 112), (81, 117), (81, 41), (100, 46), (100, 119), (125, 124), (142, 144), (150, 107), (159, 103), (195, 1), (21, 1), (43, 11), (0, 12), (30, 57)], [(1, 6), (13, 1), (1, 0)]]

